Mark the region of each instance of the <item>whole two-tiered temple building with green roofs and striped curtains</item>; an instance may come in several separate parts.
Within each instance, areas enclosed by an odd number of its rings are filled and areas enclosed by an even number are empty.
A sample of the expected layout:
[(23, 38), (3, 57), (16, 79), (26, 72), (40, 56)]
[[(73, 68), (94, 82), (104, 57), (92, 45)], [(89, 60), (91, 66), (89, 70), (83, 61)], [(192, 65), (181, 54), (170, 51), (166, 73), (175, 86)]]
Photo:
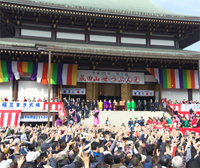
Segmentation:
[(200, 101), (200, 52), (183, 50), (200, 40), (200, 16), (152, 0), (1, 0), (0, 9), (0, 97), (47, 98), (50, 82), (51, 98)]

